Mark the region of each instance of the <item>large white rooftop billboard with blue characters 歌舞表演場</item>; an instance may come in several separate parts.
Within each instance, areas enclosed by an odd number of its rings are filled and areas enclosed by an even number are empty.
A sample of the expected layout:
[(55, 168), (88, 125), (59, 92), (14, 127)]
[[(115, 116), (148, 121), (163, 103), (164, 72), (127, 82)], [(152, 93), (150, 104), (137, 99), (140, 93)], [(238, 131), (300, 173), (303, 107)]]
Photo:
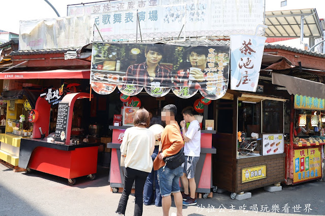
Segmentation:
[[(263, 23), (264, 1), (119, 0), (68, 6), (68, 16), (91, 14), (109, 41), (136, 38), (137, 11), (142, 38), (252, 34)], [(94, 41), (102, 41), (94, 30)]]

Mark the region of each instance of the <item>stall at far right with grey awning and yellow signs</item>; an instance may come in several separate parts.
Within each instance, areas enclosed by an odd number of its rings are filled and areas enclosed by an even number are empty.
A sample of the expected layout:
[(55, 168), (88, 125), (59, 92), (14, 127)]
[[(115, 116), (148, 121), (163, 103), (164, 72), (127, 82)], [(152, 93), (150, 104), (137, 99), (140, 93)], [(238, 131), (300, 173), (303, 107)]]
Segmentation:
[(291, 94), (290, 139), (285, 144), (285, 183), (295, 185), (320, 179), (325, 145), (324, 84), (276, 73), (272, 74), (272, 83), (286, 87)]

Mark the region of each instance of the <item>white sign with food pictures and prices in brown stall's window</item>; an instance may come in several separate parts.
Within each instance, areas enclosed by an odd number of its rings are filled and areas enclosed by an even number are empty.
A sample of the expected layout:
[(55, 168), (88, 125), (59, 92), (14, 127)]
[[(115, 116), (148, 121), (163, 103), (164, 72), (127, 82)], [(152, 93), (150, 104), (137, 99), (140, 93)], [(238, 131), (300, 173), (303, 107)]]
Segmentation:
[(284, 138), (282, 133), (263, 134), (263, 155), (276, 155), (284, 152)]

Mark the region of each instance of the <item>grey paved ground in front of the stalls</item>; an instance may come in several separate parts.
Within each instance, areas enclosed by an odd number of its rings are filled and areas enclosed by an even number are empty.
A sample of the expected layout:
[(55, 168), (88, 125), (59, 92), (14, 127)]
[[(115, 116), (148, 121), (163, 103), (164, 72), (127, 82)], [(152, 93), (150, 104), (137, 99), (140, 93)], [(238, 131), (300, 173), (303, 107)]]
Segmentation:
[[(242, 201), (232, 200), (229, 192), (213, 194), (213, 198), (199, 199), (198, 206), (184, 206), (183, 215), (325, 215), (324, 182), (282, 187), (274, 193), (253, 190), (252, 198)], [(98, 167), (98, 178), (93, 181), (80, 177), (77, 185), (68, 186), (61, 177), (38, 171), (15, 173), (0, 164), (0, 215), (115, 215), (119, 198), (120, 194), (110, 192), (108, 168)], [(286, 203), (288, 208), (284, 208)], [(258, 213), (252, 211), (254, 205)], [(272, 213), (272, 206), (274, 211), (277, 205), (279, 213)], [(134, 196), (130, 196), (125, 215), (133, 215), (133, 209)], [(170, 215), (173, 212), (174, 203)], [(161, 207), (144, 206), (143, 215), (162, 215)]]

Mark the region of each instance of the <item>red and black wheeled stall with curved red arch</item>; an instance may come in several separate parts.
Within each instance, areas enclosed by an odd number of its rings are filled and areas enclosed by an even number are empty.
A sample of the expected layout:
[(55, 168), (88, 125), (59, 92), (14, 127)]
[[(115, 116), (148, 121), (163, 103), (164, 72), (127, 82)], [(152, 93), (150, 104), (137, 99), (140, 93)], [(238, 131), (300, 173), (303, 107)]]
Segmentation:
[(76, 184), (76, 177), (95, 178), (100, 144), (71, 138), (74, 105), (84, 98), (89, 98), (89, 93), (70, 93), (58, 102), (55, 135), (46, 140), (43, 138), (49, 131), (51, 106), (43, 97), (38, 98), (35, 116), (30, 118), (38, 130), (32, 138), (21, 139), (19, 167), (68, 178), (70, 185)]

